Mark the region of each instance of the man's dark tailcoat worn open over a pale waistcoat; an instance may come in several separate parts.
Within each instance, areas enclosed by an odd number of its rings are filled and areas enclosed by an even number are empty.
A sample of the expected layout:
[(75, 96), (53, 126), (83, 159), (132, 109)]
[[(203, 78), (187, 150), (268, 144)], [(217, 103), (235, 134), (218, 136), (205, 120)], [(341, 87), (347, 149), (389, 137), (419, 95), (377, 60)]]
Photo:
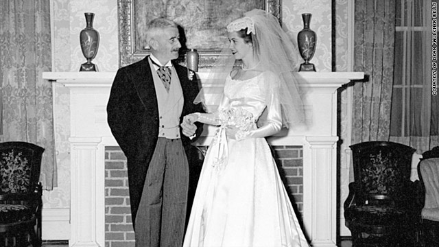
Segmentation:
[[(185, 115), (204, 111), (201, 104), (193, 104), (193, 99), (199, 92), (196, 75), (194, 74), (190, 80), (186, 67), (175, 62), (173, 66), (177, 71), (185, 100), (180, 117), (181, 123)], [(108, 100), (107, 113), (111, 132), (127, 158), (131, 215), (135, 226), (134, 221), (146, 172), (157, 143), (159, 126), (156, 89), (148, 56), (117, 71)], [(199, 137), (202, 124), (196, 124), (198, 127), (196, 136)], [(181, 128), (180, 136), (191, 165), (191, 158), (196, 151), (190, 144), (191, 140), (182, 134)]]

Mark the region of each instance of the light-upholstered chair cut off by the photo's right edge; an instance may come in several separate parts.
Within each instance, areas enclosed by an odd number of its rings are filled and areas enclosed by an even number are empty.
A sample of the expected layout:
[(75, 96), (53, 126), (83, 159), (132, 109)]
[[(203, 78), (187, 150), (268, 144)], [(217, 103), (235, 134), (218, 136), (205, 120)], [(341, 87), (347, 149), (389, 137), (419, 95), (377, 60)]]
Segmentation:
[(439, 246), (439, 146), (423, 153), (418, 163), (423, 189), (421, 240), (425, 247)]

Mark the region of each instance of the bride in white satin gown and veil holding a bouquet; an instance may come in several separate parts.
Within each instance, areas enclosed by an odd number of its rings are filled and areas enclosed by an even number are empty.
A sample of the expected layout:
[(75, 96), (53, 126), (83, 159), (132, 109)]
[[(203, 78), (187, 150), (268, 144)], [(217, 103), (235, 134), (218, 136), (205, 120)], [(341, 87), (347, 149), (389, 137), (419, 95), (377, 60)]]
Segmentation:
[[(224, 61), (233, 58), (241, 67), (233, 62), (215, 67), (211, 78), (225, 81), (217, 110), (187, 115), (182, 123), (219, 126), (204, 159), (183, 246), (309, 246), (265, 141), (304, 119), (293, 73), (300, 61), (297, 49), (263, 10), (246, 12), (227, 31), (230, 56)], [(207, 90), (200, 92), (200, 101)]]

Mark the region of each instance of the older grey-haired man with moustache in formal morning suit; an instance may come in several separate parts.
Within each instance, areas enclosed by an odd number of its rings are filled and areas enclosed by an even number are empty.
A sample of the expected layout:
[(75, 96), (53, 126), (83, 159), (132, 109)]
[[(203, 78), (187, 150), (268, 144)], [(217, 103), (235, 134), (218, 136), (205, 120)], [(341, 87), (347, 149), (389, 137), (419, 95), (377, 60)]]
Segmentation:
[[(172, 60), (180, 49), (177, 25), (148, 24), (151, 55), (122, 67), (112, 84), (108, 124), (127, 157), (132, 222), (138, 247), (182, 246), (191, 139), (202, 126), (180, 128), (182, 116), (202, 111), (193, 104), (193, 71)], [(191, 138), (189, 138), (191, 137)]]

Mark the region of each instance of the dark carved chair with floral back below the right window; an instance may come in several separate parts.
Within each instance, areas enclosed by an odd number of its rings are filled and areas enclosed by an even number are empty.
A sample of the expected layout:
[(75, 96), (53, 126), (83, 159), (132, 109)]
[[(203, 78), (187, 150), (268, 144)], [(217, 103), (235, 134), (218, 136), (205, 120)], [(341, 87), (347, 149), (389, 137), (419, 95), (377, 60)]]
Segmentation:
[(416, 246), (420, 209), (410, 180), (414, 149), (390, 141), (351, 145), (354, 182), (344, 202), (353, 247)]

